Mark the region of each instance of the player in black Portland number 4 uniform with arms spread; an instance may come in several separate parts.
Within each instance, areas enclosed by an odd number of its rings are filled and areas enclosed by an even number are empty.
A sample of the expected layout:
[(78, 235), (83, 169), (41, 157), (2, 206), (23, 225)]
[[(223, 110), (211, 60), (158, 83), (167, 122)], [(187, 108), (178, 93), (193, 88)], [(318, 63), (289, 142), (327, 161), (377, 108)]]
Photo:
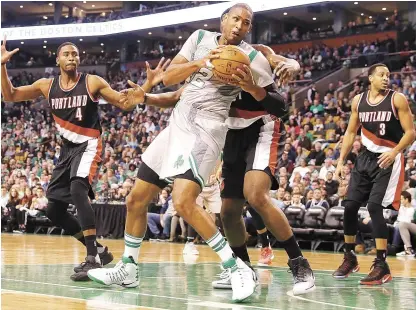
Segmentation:
[[(52, 109), (63, 146), (59, 162), (52, 173), (47, 190), (47, 216), (56, 226), (82, 242), (87, 249), (86, 261), (74, 268), (74, 281), (88, 280), (87, 271), (100, 268), (112, 261), (107, 247), (96, 241), (95, 215), (89, 197), (94, 197), (91, 184), (101, 162), (101, 125), (98, 114), (98, 97), (123, 110), (143, 101), (143, 93), (130, 92), (129, 100), (121, 102), (122, 93), (96, 75), (78, 72), (79, 50), (70, 42), (57, 51), (56, 62), (60, 75), (54, 79), (40, 79), (32, 85), (13, 87), (6, 70), (6, 62), (18, 52), (8, 52), (6, 39), (1, 46), (1, 90), (5, 101), (19, 102), (44, 96)], [(155, 70), (148, 70), (143, 89), (150, 91), (161, 82), (163, 59)], [(156, 83), (156, 84), (154, 84)], [(78, 219), (67, 211), (69, 204), (77, 208)]]

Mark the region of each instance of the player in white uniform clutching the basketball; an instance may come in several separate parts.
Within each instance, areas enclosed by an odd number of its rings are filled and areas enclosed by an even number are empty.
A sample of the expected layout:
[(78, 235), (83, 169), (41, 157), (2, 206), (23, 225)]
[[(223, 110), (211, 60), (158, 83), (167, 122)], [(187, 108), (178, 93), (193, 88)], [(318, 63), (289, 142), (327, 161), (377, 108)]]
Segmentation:
[[(224, 146), (225, 120), (236, 95), (244, 90), (258, 101), (274, 100), (270, 98), (275, 93), (265, 89), (274, 83), (268, 61), (243, 41), (251, 30), (252, 19), (253, 12), (249, 6), (234, 5), (223, 19), (222, 34), (205, 30), (194, 32), (166, 70), (163, 79), (166, 85), (190, 78), (189, 84), (183, 89), (169, 126), (142, 156), (138, 181), (127, 198), (122, 260), (114, 268), (91, 270), (88, 275), (92, 280), (124, 287), (139, 285), (136, 261), (147, 227), (147, 206), (166, 181), (174, 178), (172, 196), (175, 209), (219, 255), (223, 267), (230, 270), (232, 299), (243, 301), (253, 294), (256, 286), (253, 270), (235, 258), (209, 215), (196, 205), (196, 198)], [(219, 57), (218, 46), (224, 44), (238, 45), (251, 60), (250, 68), (246, 66), (233, 76), (236, 85), (223, 84), (211, 70), (209, 60)]]

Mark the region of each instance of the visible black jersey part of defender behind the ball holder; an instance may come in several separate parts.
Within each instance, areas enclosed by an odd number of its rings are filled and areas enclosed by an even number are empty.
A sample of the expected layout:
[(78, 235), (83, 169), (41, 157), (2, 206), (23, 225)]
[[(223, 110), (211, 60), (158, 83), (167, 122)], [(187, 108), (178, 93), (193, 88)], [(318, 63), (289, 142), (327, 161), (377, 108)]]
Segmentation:
[(268, 114), (252, 95), (242, 91), (231, 103), (227, 124), (230, 129), (242, 129)]

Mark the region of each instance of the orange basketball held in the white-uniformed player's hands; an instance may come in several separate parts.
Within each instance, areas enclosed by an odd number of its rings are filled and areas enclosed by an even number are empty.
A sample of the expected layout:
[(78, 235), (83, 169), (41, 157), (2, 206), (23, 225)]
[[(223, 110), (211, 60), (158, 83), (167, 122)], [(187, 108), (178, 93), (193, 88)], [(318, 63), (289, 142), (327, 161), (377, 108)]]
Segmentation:
[(220, 58), (213, 59), (211, 62), (214, 65), (214, 76), (222, 82), (228, 84), (234, 82), (232, 75), (237, 74), (237, 69), (243, 69), (244, 65), (250, 66), (250, 59), (237, 46), (228, 45), (221, 50)]

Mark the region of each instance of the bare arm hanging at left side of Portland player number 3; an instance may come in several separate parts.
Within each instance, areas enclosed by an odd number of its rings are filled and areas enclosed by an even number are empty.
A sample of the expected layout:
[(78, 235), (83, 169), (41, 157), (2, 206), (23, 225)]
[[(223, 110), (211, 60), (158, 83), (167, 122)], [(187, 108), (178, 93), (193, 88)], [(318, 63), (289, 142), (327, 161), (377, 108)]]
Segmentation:
[(351, 151), (355, 136), (357, 135), (357, 130), (360, 127), (360, 120), (358, 118), (357, 110), (359, 100), (360, 95), (357, 95), (352, 99), (351, 116), (348, 122), (347, 130), (345, 131), (344, 137), (342, 139), (341, 154), (339, 156), (337, 169), (335, 171), (335, 177), (338, 179), (342, 172), (342, 167), (344, 166), (345, 159)]

